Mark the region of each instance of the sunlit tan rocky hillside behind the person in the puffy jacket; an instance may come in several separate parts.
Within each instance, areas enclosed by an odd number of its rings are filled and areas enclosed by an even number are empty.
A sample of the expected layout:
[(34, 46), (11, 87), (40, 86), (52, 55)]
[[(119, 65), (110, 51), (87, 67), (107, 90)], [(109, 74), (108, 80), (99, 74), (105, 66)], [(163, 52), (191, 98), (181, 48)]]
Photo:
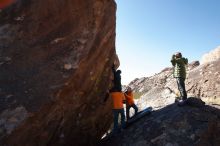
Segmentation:
[[(185, 81), (189, 97), (199, 97), (210, 105), (220, 105), (220, 57), (213, 54), (218, 50), (208, 55), (215, 58), (212, 61), (201, 65), (198, 61), (190, 63)], [(146, 106), (158, 109), (174, 102), (179, 91), (172, 73), (172, 68), (165, 68), (154, 76), (135, 79), (129, 84), (140, 96), (137, 102), (141, 109)]]

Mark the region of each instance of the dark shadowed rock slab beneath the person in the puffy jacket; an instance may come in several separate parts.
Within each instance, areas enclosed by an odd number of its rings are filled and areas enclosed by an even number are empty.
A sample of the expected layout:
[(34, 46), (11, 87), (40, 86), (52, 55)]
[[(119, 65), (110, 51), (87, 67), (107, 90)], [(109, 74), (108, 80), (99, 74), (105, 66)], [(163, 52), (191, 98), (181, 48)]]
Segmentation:
[(178, 107), (171, 104), (142, 118), (101, 146), (218, 146), (220, 110), (204, 105), (198, 98)]

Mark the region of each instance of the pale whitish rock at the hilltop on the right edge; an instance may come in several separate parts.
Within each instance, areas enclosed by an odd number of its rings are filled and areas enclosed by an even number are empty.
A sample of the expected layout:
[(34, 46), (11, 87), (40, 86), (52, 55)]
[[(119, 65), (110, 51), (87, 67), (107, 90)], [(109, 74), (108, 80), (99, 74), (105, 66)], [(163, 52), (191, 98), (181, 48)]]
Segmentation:
[(220, 46), (202, 56), (201, 63), (209, 63), (220, 59)]

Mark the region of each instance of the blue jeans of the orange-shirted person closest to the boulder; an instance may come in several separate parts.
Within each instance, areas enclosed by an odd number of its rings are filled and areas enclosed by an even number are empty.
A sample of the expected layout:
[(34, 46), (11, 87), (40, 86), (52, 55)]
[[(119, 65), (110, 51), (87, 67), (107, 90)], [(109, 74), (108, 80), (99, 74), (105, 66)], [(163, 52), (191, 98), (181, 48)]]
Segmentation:
[(120, 128), (118, 126), (119, 114), (121, 115), (121, 127), (125, 128), (125, 112), (124, 112), (124, 108), (122, 108), (122, 109), (113, 109), (112, 111), (113, 111), (113, 115), (114, 115), (113, 133), (118, 133), (120, 131)]

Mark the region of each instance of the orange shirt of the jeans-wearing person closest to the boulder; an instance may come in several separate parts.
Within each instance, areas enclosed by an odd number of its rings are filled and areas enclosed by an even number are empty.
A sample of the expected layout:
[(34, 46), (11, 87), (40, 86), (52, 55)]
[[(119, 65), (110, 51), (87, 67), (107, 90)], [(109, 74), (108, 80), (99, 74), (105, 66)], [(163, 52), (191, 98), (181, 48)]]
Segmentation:
[(122, 92), (111, 92), (111, 97), (113, 100), (113, 109), (122, 109), (123, 100), (125, 99)]

